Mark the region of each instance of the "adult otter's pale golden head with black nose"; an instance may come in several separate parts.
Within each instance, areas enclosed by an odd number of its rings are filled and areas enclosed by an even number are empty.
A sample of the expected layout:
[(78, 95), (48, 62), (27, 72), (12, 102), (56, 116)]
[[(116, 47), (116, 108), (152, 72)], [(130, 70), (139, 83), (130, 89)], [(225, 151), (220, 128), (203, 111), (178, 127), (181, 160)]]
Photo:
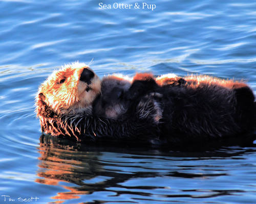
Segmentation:
[(100, 89), (100, 79), (86, 64), (66, 65), (40, 85), (36, 96), (37, 116), (42, 105), (57, 114), (82, 112), (91, 107)]

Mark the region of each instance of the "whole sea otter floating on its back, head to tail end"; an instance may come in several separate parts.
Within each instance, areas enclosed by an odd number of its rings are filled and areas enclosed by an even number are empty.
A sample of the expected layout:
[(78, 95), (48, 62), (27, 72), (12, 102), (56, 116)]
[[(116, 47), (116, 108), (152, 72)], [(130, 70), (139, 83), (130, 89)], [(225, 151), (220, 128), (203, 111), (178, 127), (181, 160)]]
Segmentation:
[[(112, 77), (101, 86), (88, 66), (68, 65), (39, 88), (36, 112), (41, 129), (78, 141), (169, 145), (232, 138), (254, 130), (254, 95), (247, 85), (207, 76), (174, 79), (139, 75), (124, 82)], [(103, 91), (108, 83), (111, 91)], [(93, 108), (96, 100), (100, 103)], [(103, 100), (108, 106), (102, 106)]]

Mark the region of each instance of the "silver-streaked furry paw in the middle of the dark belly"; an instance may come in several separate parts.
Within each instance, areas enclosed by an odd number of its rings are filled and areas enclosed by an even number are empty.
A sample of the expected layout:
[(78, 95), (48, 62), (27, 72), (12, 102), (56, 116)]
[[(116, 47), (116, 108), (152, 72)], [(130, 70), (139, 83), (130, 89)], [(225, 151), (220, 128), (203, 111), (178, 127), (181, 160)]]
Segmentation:
[(154, 123), (159, 123), (162, 118), (162, 108), (159, 99), (162, 94), (154, 92), (145, 95), (137, 106), (137, 114), (141, 119), (152, 119)]

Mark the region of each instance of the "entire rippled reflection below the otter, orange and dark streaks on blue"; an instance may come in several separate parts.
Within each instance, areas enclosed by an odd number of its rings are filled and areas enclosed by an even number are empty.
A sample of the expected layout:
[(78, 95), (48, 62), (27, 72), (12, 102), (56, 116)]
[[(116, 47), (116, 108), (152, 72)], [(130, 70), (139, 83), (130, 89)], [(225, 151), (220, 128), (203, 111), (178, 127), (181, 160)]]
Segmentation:
[(51, 203), (189, 203), (206, 198), (214, 201), (216, 197), (220, 201), (223, 195), (237, 197), (244, 193), (237, 189), (243, 189), (245, 183), (233, 189), (232, 181), (250, 177), (246, 157), (255, 152), (255, 147), (146, 151), (85, 147), (42, 135), (38, 150), (40, 178), (36, 182), (63, 189), (54, 192)]

